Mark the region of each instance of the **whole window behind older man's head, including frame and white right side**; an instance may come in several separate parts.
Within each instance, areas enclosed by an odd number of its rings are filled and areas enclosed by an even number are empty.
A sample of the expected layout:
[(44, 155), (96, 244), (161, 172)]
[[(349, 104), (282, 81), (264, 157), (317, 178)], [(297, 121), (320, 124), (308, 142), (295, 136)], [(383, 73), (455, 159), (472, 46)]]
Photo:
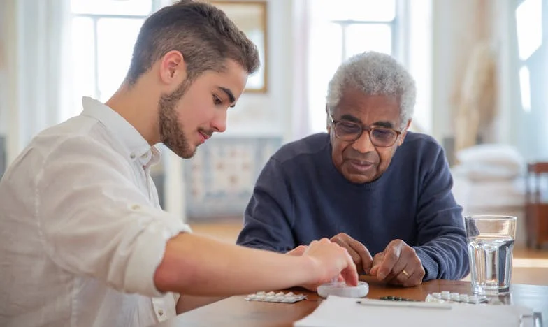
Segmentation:
[(431, 0), (310, 0), (309, 126), (326, 130), (329, 80), (345, 59), (364, 51), (391, 54), (417, 83), (412, 129), (429, 133), (431, 110)]

